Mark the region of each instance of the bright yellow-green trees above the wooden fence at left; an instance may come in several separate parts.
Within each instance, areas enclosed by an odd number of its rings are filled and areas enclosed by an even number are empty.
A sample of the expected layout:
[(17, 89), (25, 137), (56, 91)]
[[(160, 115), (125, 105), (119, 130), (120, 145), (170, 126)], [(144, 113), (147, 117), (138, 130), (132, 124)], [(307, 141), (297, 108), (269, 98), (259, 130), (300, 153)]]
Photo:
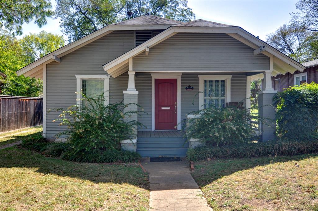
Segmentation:
[(17, 76), (15, 72), (63, 45), (62, 36), (45, 31), (18, 40), (7, 31), (0, 30), (0, 94), (30, 97), (42, 95), (40, 79)]

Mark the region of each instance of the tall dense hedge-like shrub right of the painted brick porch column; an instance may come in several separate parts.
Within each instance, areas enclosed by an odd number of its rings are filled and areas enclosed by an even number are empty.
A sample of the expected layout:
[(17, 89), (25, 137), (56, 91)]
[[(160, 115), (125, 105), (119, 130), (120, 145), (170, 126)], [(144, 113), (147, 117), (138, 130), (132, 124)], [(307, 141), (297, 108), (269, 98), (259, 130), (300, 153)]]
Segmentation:
[(318, 136), (318, 84), (303, 84), (279, 92), (276, 135), (285, 140), (310, 140)]

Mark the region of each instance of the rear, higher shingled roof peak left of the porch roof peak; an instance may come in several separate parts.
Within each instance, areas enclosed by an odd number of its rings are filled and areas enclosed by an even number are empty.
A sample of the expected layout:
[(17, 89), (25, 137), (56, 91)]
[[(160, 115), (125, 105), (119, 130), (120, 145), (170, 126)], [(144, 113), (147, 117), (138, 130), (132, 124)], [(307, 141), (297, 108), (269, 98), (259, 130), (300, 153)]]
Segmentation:
[(128, 19), (112, 25), (152, 25), (152, 24), (166, 24), (166, 25), (176, 25), (180, 24), (180, 21), (171, 20), (163, 17), (154, 16), (151, 14), (146, 14), (140, 17), (135, 17)]

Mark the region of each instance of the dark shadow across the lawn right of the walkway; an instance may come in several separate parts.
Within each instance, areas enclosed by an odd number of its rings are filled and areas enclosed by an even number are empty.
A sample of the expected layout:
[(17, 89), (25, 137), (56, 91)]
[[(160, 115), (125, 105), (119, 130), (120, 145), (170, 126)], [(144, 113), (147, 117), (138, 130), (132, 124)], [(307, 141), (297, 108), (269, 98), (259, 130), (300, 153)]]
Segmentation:
[(195, 162), (195, 170), (192, 172), (192, 176), (199, 186), (204, 186), (214, 180), (220, 179), (223, 176), (231, 175), (237, 171), (278, 162), (295, 161), (295, 163), (297, 163), (297, 161), (311, 157), (318, 157), (318, 153), (294, 156), (198, 161)]

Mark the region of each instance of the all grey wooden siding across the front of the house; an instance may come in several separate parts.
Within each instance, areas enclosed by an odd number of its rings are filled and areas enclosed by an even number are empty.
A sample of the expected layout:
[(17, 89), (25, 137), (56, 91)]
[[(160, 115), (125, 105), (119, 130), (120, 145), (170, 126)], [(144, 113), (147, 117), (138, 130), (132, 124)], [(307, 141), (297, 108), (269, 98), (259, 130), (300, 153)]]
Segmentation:
[[(200, 37), (197, 39), (198, 41), (195, 39), (196, 36)], [(169, 70), (175, 69), (178, 71), (185, 71), (181, 77), (181, 121), (185, 119), (189, 112), (198, 109), (198, 97), (194, 99), (194, 105), (192, 105), (194, 95), (199, 89), (199, 78), (197, 77), (198, 74), (232, 74), (231, 101), (241, 101), (245, 99), (246, 94), (246, 74), (230, 73), (229, 71), (242, 71), (243, 69), (264, 70), (269, 68), (268, 57), (263, 55), (253, 56), (253, 49), (225, 34), (190, 34), (189, 36), (180, 34), (180, 37), (182, 39), (178, 40), (175, 39), (178, 37), (174, 36), (173, 42), (168, 42), (168, 46), (167, 44), (158, 45), (157, 49), (160, 50), (160, 52), (165, 52), (165, 55), (160, 57), (159, 60), (153, 60), (152, 58), (154, 55), (156, 55), (156, 48), (154, 47), (151, 48), (149, 52), (149, 58), (151, 58), (150, 63), (153, 63), (149, 64), (149, 61), (147, 60), (141, 60), (141, 62), (145, 62), (144, 67), (146, 69), (144, 69), (144, 71), (168, 70), (169, 65), (171, 65), (171, 69)], [(175, 53), (171, 54), (171, 52), (166, 52), (165, 48), (171, 50), (171, 46), (169, 44), (173, 47), (176, 47), (174, 48), (176, 50), (174, 51)], [(47, 110), (61, 107), (67, 108), (70, 105), (75, 105), (75, 74), (105, 75), (107, 73), (102, 69), (101, 65), (129, 51), (134, 46), (135, 40), (133, 31), (116, 31), (62, 57), (61, 63), (52, 62), (48, 64), (46, 68)], [(179, 53), (183, 51), (185, 56), (179, 56)], [(161, 54), (160, 52), (159, 54)], [(189, 61), (183, 64), (185, 59), (189, 59), (189, 56), (191, 55), (195, 56), (191, 57)], [(199, 59), (197, 56), (202, 59)], [(139, 56), (134, 58), (133, 61), (136, 62), (138, 59)], [(198, 61), (198, 59), (200, 61)], [(158, 62), (160, 62), (160, 64)], [(148, 68), (147, 65), (149, 65), (151, 68)], [(134, 63), (133, 69), (137, 71), (137, 68), (138, 64)], [(190, 70), (222, 70), (228, 72), (186, 72)], [(151, 130), (151, 75), (150, 73), (146, 72), (137, 72), (135, 77), (136, 90), (139, 92), (138, 104), (141, 105), (144, 108), (144, 111), (147, 113), (142, 114), (142, 117), (139, 118), (139, 121), (147, 127), (142, 128), (142, 130)], [(195, 89), (193, 91), (186, 91), (184, 89), (184, 87), (188, 86), (189, 84), (194, 86)], [(109, 79), (109, 87), (110, 103), (121, 101), (123, 99), (123, 90), (126, 90), (128, 87), (128, 74), (123, 73), (117, 78), (111, 77)], [(59, 114), (60, 112), (56, 112), (54, 110), (47, 112), (47, 138), (53, 138), (57, 133), (61, 132), (63, 129), (66, 129), (64, 126), (59, 126), (58, 122), (52, 122), (52, 120), (58, 119)]]

